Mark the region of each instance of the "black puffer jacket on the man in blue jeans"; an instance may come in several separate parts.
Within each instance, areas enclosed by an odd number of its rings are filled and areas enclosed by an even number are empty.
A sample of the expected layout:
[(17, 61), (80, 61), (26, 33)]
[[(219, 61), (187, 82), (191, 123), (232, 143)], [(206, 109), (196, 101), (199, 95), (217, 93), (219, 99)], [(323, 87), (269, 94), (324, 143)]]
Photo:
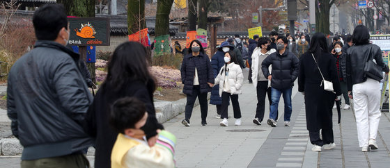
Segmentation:
[(294, 85), (299, 72), (299, 60), (294, 53), (288, 52), (286, 49), (282, 55), (276, 51), (267, 56), (261, 64), (261, 70), (266, 78), (271, 75), (268, 71), (270, 65), (272, 65), (271, 87), (284, 90)]

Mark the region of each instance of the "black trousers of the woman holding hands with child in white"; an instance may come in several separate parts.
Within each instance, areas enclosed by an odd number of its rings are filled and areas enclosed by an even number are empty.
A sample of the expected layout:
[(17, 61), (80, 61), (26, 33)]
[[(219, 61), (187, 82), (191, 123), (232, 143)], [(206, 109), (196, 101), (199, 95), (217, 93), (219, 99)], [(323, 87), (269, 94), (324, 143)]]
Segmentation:
[(198, 97), (199, 104), (201, 106), (202, 121), (206, 121), (208, 113), (207, 93), (201, 93), (201, 87), (199, 85), (194, 85), (192, 94), (187, 94), (187, 104), (185, 105), (185, 119), (191, 119), (196, 97)]

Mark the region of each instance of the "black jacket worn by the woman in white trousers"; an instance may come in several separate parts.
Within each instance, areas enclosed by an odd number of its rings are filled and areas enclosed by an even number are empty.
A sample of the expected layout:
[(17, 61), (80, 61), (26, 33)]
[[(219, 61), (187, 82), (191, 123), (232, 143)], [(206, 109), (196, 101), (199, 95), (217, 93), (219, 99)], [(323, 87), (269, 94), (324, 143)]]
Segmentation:
[(367, 77), (364, 76), (364, 65), (366, 65), (368, 56), (374, 58), (377, 65), (382, 67), (383, 72), (389, 72), (389, 67), (383, 63), (380, 47), (375, 44), (354, 45), (347, 50), (348, 91), (352, 91), (352, 85), (367, 80)]

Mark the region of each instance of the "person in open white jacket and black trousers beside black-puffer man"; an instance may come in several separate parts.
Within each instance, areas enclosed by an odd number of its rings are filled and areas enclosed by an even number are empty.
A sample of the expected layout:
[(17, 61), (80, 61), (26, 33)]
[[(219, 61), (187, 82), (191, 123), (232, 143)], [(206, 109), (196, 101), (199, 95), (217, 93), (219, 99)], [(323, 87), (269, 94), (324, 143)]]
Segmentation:
[[(258, 47), (252, 54), (252, 81), (253, 86), (256, 88), (257, 94), (257, 106), (256, 106), (256, 115), (253, 119), (253, 123), (256, 125), (261, 125), (261, 122), (264, 119), (265, 112), (265, 94), (268, 95), (268, 101), (272, 104), (271, 99), (271, 87), (268, 78), (266, 78), (261, 70), (261, 64), (263, 60), (270, 56), (271, 53), (276, 52), (275, 49), (271, 49), (271, 40), (268, 37), (260, 37), (258, 39)], [(270, 70), (270, 68), (269, 68)], [(277, 118), (277, 117), (276, 117)]]

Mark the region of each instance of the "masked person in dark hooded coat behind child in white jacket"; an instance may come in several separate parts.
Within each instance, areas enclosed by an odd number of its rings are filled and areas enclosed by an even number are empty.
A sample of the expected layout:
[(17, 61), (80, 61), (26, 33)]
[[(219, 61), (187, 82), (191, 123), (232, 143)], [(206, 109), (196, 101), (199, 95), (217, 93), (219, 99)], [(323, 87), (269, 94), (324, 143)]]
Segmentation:
[[(218, 76), (219, 71), (221, 70), (221, 67), (225, 65), (224, 57), (225, 53), (228, 51), (233, 51), (233, 47), (228, 42), (222, 42), (219, 49), (217, 50), (217, 53), (214, 54), (211, 58), (211, 67), (212, 67), (212, 74), (214, 75), (213, 78), (216, 78)], [(221, 104), (222, 104), (222, 98), (219, 96), (219, 86), (215, 85), (215, 87), (212, 87), (211, 90), (211, 96), (210, 96), (210, 104), (213, 104), (217, 108), (217, 115), (216, 118), (221, 118)]]

